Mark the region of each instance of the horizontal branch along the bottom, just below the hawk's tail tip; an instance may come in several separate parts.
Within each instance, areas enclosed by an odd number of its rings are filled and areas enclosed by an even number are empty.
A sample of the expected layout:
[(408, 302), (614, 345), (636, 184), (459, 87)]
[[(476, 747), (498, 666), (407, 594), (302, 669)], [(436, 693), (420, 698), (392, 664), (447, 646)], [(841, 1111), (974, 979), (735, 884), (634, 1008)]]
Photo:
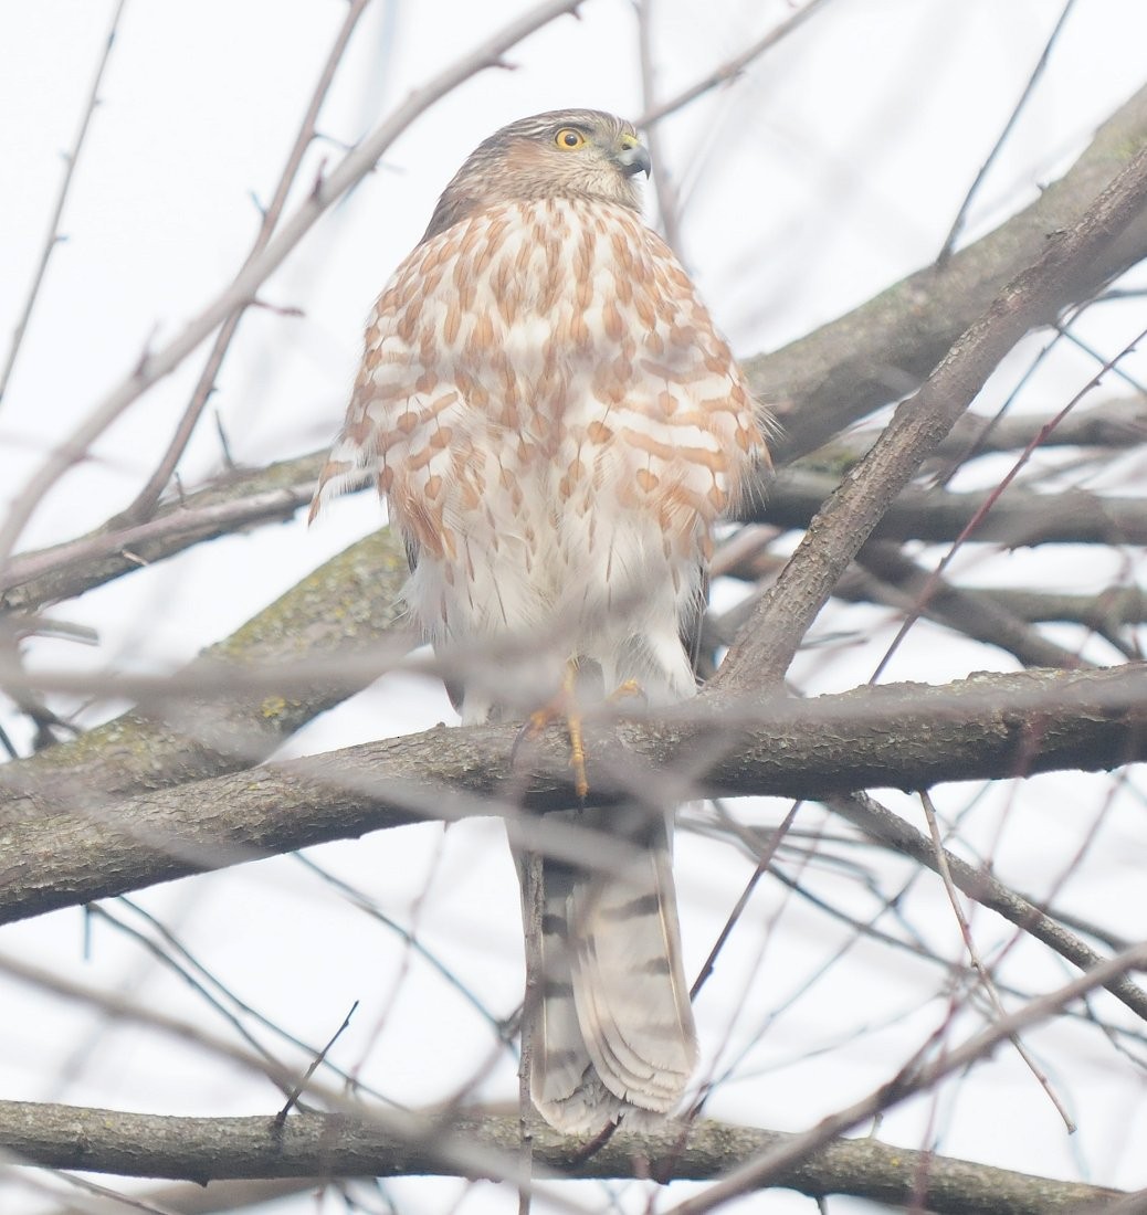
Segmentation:
[[(29, 1164), (136, 1177), (395, 1177), (456, 1176), (435, 1140), (445, 1131), (480, 1158), (505, 1159), (518, 1147), (516, 1118), (461, 1118), (425, 1137), (399, 1136), (368, 1118), (164, 1118), (74, 1106), (0, 1102), (0, 1145)], [(533, 1131), (535, 1163), (563, 1177), (705, 1181), (795, 1140), (795, 1135), (699, 1121), (689, 1128), (615, 1134), (584, 1157), (584, 1143), (548, 1128)], [(492, 1170), (493, 1171), (493, 1170)], [(475, 1170), (471, 1176), (484, 1176)], [(495, 1171), (497, 1176), (497, 1172)], [(838, 1140), (770, 1182), (815, 1197), (854, 1194), (970, 1215), (1045, 1215), (1119, 1192), (993, 1169), (971, 1160), (893, 1147), (872, 1138)]]

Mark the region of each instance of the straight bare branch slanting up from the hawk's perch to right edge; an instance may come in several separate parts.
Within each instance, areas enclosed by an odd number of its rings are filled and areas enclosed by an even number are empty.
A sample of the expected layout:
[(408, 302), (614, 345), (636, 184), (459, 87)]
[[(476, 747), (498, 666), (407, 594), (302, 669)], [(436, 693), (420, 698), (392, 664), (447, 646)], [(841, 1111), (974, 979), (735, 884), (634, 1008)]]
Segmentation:
[(1004, 356), (1069, 299), (1102, 281), (1120, 236), (1147, 215), (1147, 142), (1083, 219), (1047, 245), (897, 409), (876, 446), (846, 476), (764, 595), (713, 684), (748, 693), (775, 683), (837, 580), (888, 507), (972, 403)]

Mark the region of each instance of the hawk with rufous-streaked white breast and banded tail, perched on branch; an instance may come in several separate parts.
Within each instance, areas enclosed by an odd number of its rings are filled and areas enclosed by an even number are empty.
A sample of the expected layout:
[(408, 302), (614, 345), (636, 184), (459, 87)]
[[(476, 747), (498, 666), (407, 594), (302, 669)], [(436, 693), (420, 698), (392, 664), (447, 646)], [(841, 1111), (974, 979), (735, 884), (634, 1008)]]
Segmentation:
[[(563, 689), (652, 707), (696, 691), (683, 638), (767, 419), (642, 220), (649, 171), (611, 114), (512, 123), (454, 175), (367, 326), (311, 516), (375, 482), (463, 723)], [(695, 1068), (667, 819), (574, 812), (623, 847), (543, 861), (531, 1095), (558, 1130), (669, 1113)]]

